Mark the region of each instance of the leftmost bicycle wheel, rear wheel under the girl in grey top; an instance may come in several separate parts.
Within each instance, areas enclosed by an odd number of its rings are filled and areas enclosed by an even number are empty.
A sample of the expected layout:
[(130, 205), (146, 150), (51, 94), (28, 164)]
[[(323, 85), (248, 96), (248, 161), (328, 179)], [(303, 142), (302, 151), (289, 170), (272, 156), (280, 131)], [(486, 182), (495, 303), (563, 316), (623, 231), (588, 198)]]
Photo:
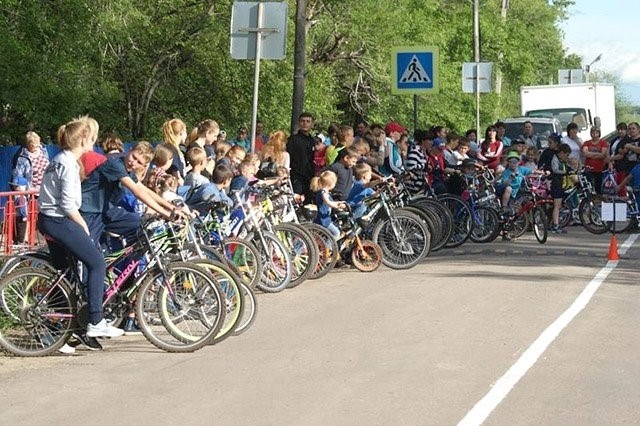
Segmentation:
[(0, 281), (0, 346), (37, 357), (54, 353), (74, 331), (77, 313), (71, 286), (39, 268), (20, 268)]

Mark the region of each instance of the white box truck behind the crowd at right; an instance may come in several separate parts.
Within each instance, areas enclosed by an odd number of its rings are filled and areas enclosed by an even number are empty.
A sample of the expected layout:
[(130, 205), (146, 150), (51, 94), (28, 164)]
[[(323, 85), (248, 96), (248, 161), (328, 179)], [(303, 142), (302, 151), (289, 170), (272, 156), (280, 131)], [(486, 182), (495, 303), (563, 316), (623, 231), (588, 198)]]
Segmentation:
[(599, 127), (601, 136), (616, 129), (615, 89), (608, 83), (522, 86), (522, 115), (557, 118), (564, 132), (567, 124), (578, 124), (578, 136), (591, 139), (591, 128)]

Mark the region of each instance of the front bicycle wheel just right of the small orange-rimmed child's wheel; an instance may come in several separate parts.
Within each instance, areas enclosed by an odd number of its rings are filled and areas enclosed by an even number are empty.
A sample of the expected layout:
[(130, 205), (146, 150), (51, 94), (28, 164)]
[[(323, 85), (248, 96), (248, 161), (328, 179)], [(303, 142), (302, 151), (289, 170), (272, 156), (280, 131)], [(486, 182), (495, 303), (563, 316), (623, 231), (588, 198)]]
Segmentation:
[(431, 246), (429, 229), (413, 213), (396, 209), (376, 222), (371, 240), (382, 249), (382, 263), (392, 269), (418, 264)]

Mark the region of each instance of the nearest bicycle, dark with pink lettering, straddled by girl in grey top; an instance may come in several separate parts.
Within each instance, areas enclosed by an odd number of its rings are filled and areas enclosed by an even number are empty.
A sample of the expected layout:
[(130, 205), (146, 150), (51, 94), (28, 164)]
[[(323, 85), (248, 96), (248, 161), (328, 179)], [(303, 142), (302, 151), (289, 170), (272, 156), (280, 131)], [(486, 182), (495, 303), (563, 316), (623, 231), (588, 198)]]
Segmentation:
[[(147, 227), (148, 222), (138, 244), (108, 260), (112, 282), (105, 291), (105, 317), (118, 312), (125, 300), (128, 312), (135, 300), (138, 325), (153, 345), (167, 352), (200, 349), (224, 321), (221, 290), (201, 268), (183, 262), (165, 264), (159, 248), (166, 238), (149, 235)], [(115, 265), (123, 262), (115, 275)], [(141, 263), (145, 263), (142, 270)], [(81, 276), (77, 262), (70, 260), (59, 271), (27, 267), (4, 277), (0, 346), (18, 356), (45, 356), (62, 347), (73, 332), (84, 330), (88, 314)], [(116, 295), (122, 297), (116, 300)]]

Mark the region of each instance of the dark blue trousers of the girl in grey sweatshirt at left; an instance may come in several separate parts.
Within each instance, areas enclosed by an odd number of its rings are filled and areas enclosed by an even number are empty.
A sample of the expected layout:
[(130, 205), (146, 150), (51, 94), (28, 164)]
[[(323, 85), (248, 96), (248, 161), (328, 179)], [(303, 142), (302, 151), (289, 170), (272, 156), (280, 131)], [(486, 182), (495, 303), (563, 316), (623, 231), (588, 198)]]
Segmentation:
[(102, 252), (84, 232), (84, 229), (68, 217), (51, 217), (38, 214), (38, 230), (47, 236), (53, 266), (64, 269), (68, 266), (67, 253), (81, 261), (87, 269), (87, 305), (89, 321), (97, 324), (102, 320), (102, 299), (106, 266)]

